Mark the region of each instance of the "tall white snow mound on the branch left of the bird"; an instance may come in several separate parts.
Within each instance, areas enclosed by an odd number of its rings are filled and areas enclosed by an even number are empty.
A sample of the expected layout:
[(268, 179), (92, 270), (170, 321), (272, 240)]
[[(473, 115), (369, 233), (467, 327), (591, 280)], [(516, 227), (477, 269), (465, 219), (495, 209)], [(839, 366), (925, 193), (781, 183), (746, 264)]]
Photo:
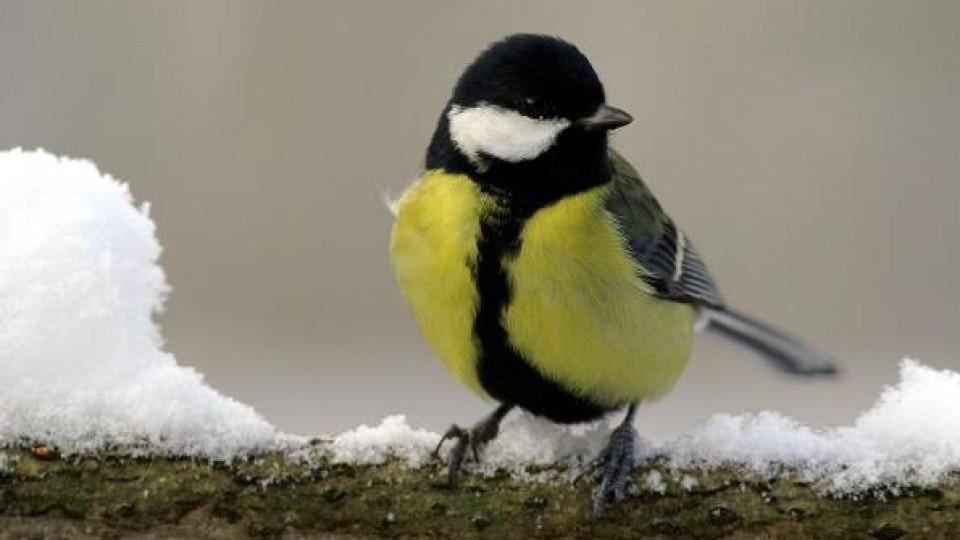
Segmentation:
[(0, 446), (227, 457), (293, 440), (162, 350), (160, 245), (125, 184), (16, 149), (0, 152), (0, 193)]

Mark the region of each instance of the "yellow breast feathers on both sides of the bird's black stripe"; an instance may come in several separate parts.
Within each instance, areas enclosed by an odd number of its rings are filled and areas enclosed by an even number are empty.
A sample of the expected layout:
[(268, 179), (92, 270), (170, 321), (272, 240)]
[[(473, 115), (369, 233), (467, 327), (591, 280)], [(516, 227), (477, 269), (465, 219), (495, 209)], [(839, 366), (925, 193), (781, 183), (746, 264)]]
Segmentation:
[[(606, 186), (530, 216), (501, 264), (510, 345), (538, 371), (600, 404), (659, 397), (690, 354), (693, 309), (661, 300), (641, 278), (613, 217)], [(483, 393), (473, 332), (481, 220), (496, 201), (464, 175), (429, 171), (398, 203), (391, 257), (428, 343)]]

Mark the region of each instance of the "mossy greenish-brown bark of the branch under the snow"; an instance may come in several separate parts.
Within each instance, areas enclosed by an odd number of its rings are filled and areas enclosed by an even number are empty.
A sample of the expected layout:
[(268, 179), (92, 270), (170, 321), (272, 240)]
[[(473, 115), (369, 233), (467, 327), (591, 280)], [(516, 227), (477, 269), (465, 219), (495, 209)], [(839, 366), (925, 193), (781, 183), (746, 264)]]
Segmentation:
[(438, 465), (6, 453), (0, 538), (960, 537), (955, 482), (854, 500), (823, 497), (789, 475), (676, 475), (653, 463), (637, 471), (639, 489), (594, 518), (590, 480), (467, 475), (450, 488)]

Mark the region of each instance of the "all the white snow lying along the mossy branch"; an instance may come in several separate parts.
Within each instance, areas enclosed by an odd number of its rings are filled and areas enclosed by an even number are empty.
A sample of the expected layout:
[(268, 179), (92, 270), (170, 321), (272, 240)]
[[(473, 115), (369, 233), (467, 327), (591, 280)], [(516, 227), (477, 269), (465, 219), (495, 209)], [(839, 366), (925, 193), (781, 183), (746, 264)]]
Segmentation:
[[(73, 451), (116, 444), (215, 458), (289, 450), (430, 462), (440, 435), (402, 415), (309, 445), (178, 364), (153, 322), (168, 287), (149, 207), (134, 206), (128, 187), (93, 163), (0, 152), (0, 194), (0, 448), (42, 441)], [(610, 431), (607, 422), (566, 427), (513, 413), (479, 470), (576, 470)], [(838, 492), (933, 484), (960, 470), (960, 374), (904, 360), (900, 381), (850, 426), (718, 414), (676, 440), (643, 441), (640, 454), (663, 460), (642, 479), (652, 491), (665, 489), (665, 474), (693, 489), (684, 468), (729, 465), (763, 474), (785, 466)]]

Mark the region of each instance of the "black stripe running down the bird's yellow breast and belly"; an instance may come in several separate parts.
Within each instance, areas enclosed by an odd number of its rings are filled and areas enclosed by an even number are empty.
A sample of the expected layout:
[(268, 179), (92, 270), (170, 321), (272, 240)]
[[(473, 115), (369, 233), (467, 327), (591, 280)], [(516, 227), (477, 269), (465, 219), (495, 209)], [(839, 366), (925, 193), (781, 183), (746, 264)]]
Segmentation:
[(616, 407), (593, 403), (545, 378), (507, 339), (502, 314), (510, 302), (511, 291), (503, 261), (517, 255), (520, 233), (530, 215), (532, 212), (502, 212), (481, 219), (473, 269), (480, 292), (474, 320), (480, 348), (477, 375), (492, 397), (535, 415), (561, 423), (595, 420)]

